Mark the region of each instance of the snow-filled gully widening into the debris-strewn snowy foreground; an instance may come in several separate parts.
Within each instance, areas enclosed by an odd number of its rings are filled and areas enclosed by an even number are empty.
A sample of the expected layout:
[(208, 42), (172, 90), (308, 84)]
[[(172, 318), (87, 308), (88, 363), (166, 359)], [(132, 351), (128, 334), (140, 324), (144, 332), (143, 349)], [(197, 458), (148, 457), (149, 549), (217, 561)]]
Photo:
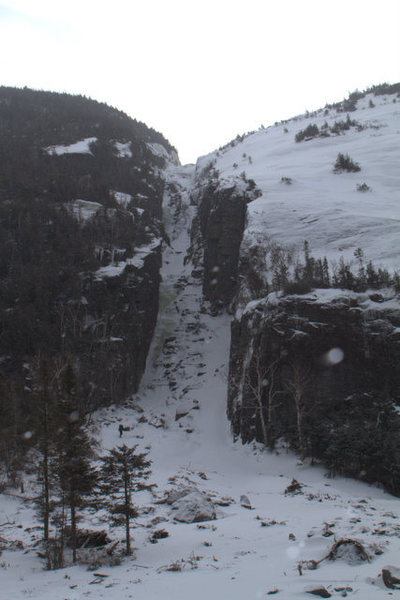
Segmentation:
[[(286, 600), (310, 598), (307, 592), (321, 587), (332, 597), (360, 600), (398, 593), (380, 576), (386, 567), (399, 576), (398, 499), (359, 482), (328, 479), (322, 468), (299, 463), (285, 449), (271, 454), (233, 442), (226, 419), (230, 319), (207, 313), (201, 281), (185, 261), (195, 210), (189, 202), (193, 168), (170, 167), (167, 176), (179, 193), (170, 187), (165, 198), (171, 243), (164, 251), (147, 371), (139, 393), (123, 406), (99, 411), (93, 426), (99, 454), (123, 442), (149, 449), (153, 461), (149, 483), (157, 487), (136, 495), (142, 512), (133, 529), (135, 557), (99, 568), (102, 578), (85, 566), (44, 571), (33, 545), (40, 531), (32, 505), (2, 495), (0, 523), (9, 525), (0, 536), (21, 540), (24, 550), (5, 550), (0, 558), (0, 599), (250, 600), (276, 593)], [(303, 487), (285, 494), (293, 478)], [(183, 486), (207, 495), (217, 518), (175, 521), (174, 511), (158, 501), (166, 490)], [(33, 493), (26, 482), (26, 498)], [(249, 507), (241, 505), (242, 495)], [(96, 514), (82, 526), (107, 527)], [(169, 536), (151, 543), (152, 531), (160, 528)], [(122, 539), (123, 532), (110, 535)], [(342, 538), (360, 541), (370, 561), (359, 563), (348, 552), (315, 570), (303, 566), (300, 574), (299, 562), (322, 559)]]

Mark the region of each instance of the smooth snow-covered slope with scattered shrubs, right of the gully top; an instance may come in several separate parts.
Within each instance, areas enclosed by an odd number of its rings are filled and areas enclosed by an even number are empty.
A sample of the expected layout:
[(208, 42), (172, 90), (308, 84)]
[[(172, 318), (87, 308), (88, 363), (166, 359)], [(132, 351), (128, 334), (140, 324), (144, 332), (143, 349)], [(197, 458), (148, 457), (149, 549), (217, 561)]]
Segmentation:
[[(311, 125), (318, 134), (296, 142)], [(220, 188), (254, 180), (262, 194), (248, 204), (241, 253), (263, 247), (266, 269), (271, 245), (301, 252), (305, 240), (314, 257), (330, 263), (354, 260), (361, 248), (377, 266), (398, 269), (399, 135), (397, 95), (367, 94), (350, 113), (321, 109), (238, 136), (198, 161), (198, 181), (202, 185), (211, 167)], [(339, 153), (361, 170), (335, 173)]]

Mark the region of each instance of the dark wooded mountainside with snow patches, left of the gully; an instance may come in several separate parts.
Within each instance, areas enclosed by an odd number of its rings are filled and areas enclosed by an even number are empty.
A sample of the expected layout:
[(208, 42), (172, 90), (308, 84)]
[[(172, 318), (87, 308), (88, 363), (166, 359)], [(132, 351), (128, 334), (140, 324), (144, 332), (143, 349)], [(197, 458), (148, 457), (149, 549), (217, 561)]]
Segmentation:
[[(134, 392), (158, 311), (163, 136), (83, 97), (0, 88), (0, 368), (72, 361), (90, 408)], [(25, 390), (25, 391), (24, 391)]]

